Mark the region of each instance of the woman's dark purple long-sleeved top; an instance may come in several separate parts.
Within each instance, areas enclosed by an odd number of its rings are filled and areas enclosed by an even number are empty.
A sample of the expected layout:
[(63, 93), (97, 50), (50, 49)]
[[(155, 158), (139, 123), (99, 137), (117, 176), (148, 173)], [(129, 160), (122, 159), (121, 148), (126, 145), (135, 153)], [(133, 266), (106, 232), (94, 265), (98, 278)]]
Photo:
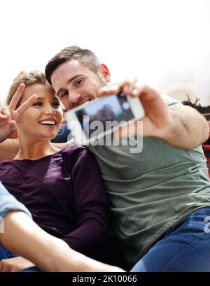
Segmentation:
[(38, 160), (0, 162), (0, 180), (34, 222), (90, 257), (108, 236), (109, 206), (99, 166), (84, 147)]

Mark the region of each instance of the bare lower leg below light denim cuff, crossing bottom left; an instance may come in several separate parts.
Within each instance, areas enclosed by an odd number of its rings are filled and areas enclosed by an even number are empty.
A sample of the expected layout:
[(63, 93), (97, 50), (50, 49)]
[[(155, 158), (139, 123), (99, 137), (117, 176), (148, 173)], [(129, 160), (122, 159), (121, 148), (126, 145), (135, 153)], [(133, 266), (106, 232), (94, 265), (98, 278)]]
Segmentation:
[(64, 241), (38, 227), (26, 213), (10, 211), (2, 222), (3, 246), (34, 262), (43, 271), (123, 271), (72, 250)]

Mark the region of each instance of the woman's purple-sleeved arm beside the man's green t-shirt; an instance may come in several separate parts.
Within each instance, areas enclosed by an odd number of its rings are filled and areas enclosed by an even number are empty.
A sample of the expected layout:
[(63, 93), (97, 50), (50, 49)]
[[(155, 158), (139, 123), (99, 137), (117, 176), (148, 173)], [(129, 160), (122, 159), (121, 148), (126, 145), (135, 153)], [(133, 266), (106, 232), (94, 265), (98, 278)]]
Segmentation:
[(77, 226), (62, 237), (71, 248), (95, 257), (109, 237), (109, 201), (92, 153), (83, 148), (71, 161), (73, 203)]

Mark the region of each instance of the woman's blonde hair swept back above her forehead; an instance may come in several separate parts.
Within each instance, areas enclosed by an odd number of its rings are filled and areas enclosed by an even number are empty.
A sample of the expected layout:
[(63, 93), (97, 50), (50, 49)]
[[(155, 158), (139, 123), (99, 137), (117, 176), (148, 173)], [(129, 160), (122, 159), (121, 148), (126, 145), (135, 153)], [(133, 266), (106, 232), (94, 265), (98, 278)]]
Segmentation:
[[(8, 95), (6, 96), (7, 105), (9, 105), (15, 92), (18, 90), (20, 83), (24, 83), (25, 87), (29, 87), (29, 85), (34, 85), (34, 83), (39, 83), (41, 85), (48, 85), (48, 81), (45, 78), (45, 73), (43, 73), (42, 71), (30, 71), (29, 73), (27, 73), (26, 71), (20, 71), (18, 76), (16, 76), (16, 78), (13, 80)], [(18, 108), (20, 100), (18, 101), (16, 108)]]

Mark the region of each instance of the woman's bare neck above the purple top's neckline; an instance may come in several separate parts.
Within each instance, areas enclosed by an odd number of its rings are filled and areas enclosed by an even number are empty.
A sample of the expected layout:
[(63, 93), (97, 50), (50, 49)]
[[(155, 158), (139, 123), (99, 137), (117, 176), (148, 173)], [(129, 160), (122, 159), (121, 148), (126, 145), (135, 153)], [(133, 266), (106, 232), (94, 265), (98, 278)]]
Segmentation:
[(14, 159), (37, 160), (48, 155), (52, 155), (59, 149), (55, 148), (49, 140), (36, 142), (19, 141), (20, 148)]

